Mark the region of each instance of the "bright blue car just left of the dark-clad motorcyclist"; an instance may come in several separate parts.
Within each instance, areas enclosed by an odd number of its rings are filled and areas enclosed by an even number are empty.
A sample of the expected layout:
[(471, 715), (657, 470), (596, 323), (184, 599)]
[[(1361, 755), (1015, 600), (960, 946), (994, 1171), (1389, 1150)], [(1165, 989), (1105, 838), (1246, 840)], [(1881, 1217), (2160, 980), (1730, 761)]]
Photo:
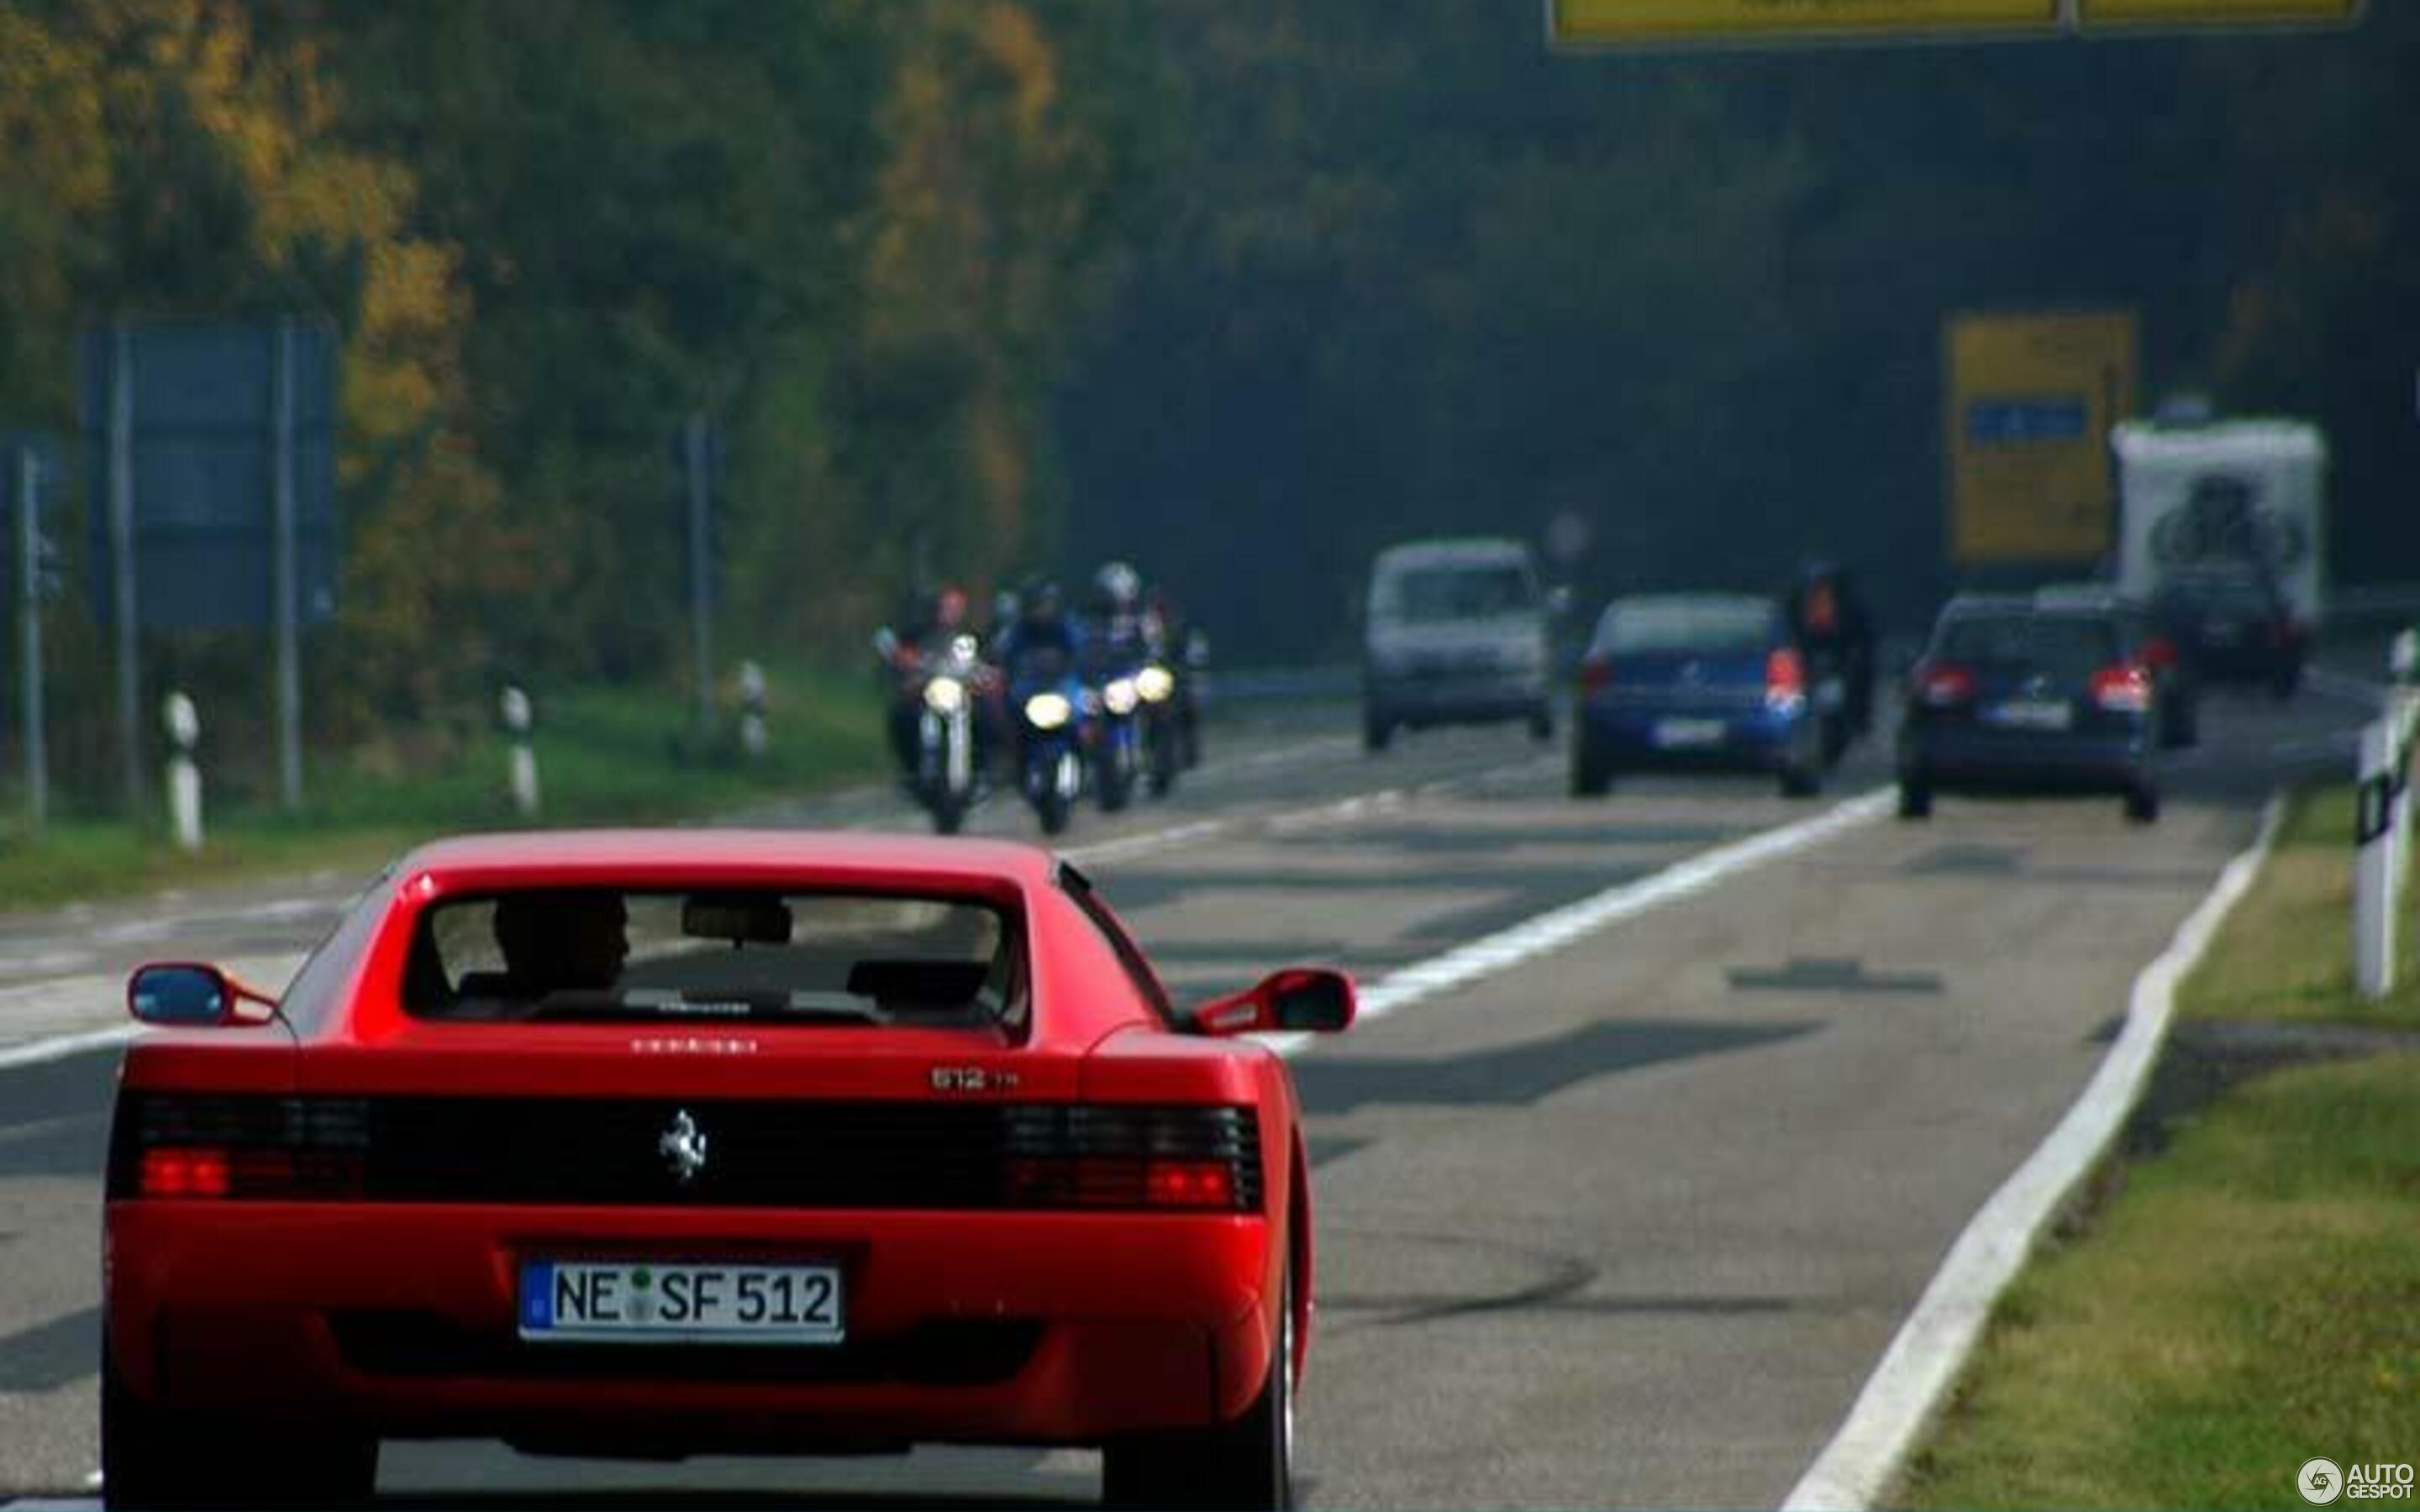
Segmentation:
[(1844, 719), (1837, 675), (1810, 677), (1771, 598), (1619, 598), (1580, 658), (1571, 791), (1624, 772), (1764, 772), (1803, 798), (1822, 789), (1825, 726)]

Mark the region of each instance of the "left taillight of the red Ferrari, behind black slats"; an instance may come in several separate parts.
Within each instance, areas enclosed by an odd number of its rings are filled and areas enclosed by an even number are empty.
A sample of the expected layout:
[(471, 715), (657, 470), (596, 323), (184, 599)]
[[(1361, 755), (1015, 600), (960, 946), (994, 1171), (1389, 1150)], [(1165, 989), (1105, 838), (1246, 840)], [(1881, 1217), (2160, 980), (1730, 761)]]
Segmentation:
[(131, 1091), (111, 1139), (109, 1195), (358, 1198), (368, 1144), (361, 1098)]

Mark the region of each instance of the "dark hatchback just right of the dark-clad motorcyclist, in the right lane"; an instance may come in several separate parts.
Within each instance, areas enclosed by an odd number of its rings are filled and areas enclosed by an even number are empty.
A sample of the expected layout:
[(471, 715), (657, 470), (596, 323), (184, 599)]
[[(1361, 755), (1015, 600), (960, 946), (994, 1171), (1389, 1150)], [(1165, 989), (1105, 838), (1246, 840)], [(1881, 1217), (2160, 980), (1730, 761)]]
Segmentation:
[(1941, 610), (1900, 721), (1900, 818), (1934, 793), (2118, 793), (2159, 818), (2149, 629), (2105, 605), (1955, 598)]

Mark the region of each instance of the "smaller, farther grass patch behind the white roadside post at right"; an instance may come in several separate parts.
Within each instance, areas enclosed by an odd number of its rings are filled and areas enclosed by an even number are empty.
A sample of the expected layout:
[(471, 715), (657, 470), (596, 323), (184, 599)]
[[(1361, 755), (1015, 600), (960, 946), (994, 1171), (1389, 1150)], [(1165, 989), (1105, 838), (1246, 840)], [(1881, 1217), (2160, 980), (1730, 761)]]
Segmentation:
[(2396, 989), (2352, 992), (2352, 786), (2297, 793), (2260, 881), (2185, 980), (2188, 1018), (2420, 1028), (2420, 888), (2398, 919)]

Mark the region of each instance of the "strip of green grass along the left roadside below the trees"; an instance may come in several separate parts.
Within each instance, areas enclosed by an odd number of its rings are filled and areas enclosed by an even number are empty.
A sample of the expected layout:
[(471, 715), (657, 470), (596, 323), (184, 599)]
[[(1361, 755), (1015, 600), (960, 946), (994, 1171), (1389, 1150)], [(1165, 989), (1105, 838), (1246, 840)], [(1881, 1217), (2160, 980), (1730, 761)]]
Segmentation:
[[(772, 668), (770, 680), (772, 745), (762, 762), (741, 760), (728, 733), (695, 740), (690, 704), (675, 689), (586, 687), (542, 702), (532, 735), (542, 798), (535, 823), (670, 823), (883, 772), (881, 697), (866, 677)], [(257, 769), (213, 784), (203, 762), (198, 856), (169, 844), (165, 815), (136, 825), (53, 813), (39, 842), (17, 830), (0, 837), (0, 910), (247, 876), (353, 873), (436, 835), (520, 827), (506, 789), (503, 733), (482, 726), (445, 745), (450, 755), (433, 767), (392, 748), (315, 755), (305, 767), (305, 806), (293, 815), (273, 796), (247, 791), (259, 786)]]

